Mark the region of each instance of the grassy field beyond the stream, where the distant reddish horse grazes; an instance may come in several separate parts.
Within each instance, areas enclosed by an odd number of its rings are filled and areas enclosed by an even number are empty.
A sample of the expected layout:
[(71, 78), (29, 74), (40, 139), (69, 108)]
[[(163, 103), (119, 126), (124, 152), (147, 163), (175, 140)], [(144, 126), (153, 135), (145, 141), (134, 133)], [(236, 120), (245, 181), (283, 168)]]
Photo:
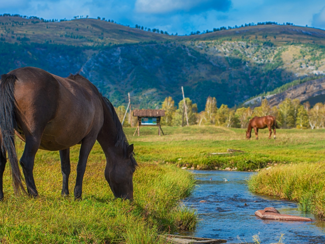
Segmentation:
[[(140, 162), (170, 163), (201, 169), (237, 167), (254, 170), (275, 163), (325, 161), (325, 130), (277, 130), (277, 139), (268, 139), (268, 130), (259, 131), (259, 140), (245, 139), (244, 129), (215, 126), (141, 127), (141, 136), (133, 137), (135, 128), (125, 132), (136, 145)], [(245, 153), (225, 153), (228, 148)]]

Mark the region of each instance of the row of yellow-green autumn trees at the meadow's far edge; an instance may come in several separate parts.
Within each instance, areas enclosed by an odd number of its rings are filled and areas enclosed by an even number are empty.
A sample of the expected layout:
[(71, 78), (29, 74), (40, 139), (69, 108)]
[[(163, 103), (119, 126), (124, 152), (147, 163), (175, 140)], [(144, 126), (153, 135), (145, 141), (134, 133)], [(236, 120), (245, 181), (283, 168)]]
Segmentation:
[[(301, 104), (298, 99), (285, 99), (278, 106), (270, 107), (268, 101), (264, 99), (262, 105), (255, 107), (229, 108), (222, 104), (217, 107), (215, 98), (208, 97), (205, 110), (198, 113), (197, 104), (193, 104), (189, 98), (185, 98), (188, 124), (192, 125), (215, 125), (229, 128), (247, 128), (249, 120), (254, 116), (272, 115), (276, 117), (277, 124), (283, 128), (297, 129), (318, 129), (325, 128), (325, 104), (317, 103), (312, 108), (309, 102)], [(165, 116), (161, 118), (161, 125), (181, 126), (184, 101), (175, 106), (175, 101), (168, 97), (163, 102), (161, 109), (165, 110)], [(119, 106), (116, 112), (122, 121), (125, 114), (125, 107)], [(136, 125), (136, 117), (130, 117), (128, 113), (123, 126), (129, 127), (133, 119), (133, 125)], [(184, 126), (186, 117), (184, 117)]]

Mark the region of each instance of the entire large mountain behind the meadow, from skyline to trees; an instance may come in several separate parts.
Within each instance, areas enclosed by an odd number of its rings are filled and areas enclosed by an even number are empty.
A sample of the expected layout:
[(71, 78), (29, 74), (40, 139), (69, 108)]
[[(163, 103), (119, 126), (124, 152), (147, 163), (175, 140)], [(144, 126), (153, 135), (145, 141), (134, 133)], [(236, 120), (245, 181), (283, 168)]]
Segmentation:
[(97, 19), (0, 17), (0, 72), (35, 66), (81, 71), (114, 105), (154, 108), (185, 96), (203, 110), (240, 104), (298, 78), (325, 73), (325, 31), (264, 24), (173, 36)]

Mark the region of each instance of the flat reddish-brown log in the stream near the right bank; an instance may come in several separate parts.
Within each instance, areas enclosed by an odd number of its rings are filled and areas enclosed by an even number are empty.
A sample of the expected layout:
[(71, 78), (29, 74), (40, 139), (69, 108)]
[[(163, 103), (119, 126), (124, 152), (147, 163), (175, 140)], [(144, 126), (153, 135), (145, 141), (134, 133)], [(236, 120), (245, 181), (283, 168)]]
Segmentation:
[(313, 221), (312, 219), (305, 217), (281, 215), (274, 207), (266, 207), (264, 210), (257, 210), (255, 215), (263, 220)]

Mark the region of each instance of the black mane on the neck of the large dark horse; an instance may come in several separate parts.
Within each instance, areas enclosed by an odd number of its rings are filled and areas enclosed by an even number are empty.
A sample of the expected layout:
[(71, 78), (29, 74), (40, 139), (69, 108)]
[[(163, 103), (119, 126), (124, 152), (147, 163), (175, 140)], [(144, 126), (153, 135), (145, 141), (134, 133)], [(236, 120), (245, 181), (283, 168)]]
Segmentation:
[[(127, 147), (129, 146), (129, 143), (128, 143), (127, 138), (124, 134), (122, 124), (121, 124), (121, 122), (117, 116), (117, 113), (114, 109), (114, 106), (110, 102), (110, 100), (108, 100), (108, 98), (105, 98), (104, 96), (102, 96), (102, 98), (103, 98), (103, 101), (106, 103), (107, 107), (109, 108), (109, 110), (111, 111), (112, 118), (113, 118), (114, 124), (117, 129), (117, 135), (115, 138), (115, 147), (122, 148), (124, 151), (124, 157), (126, 157), (127, 156), (126, 150), (127, 150)], [(138, 163), (137, 163), (136, 159), (134, 158), (134, 156), (135, 156), (135, 154), (132, 153), (130, 159), (135, 166), (138, 166)]]

